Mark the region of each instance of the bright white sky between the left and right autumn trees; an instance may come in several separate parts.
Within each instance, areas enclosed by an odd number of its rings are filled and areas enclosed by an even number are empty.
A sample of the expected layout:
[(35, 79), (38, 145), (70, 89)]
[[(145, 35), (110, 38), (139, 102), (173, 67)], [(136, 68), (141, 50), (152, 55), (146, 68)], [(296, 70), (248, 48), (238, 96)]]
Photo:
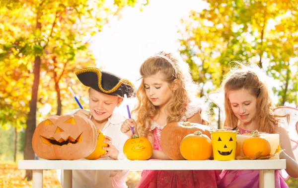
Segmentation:
[[(96, 66), (133, 82), (138, 88), (139, 68), (151, 55), (159, 51), (177, 51), (177, 25), (191, 9), (203, 10), (201, 0), (149, 0), (141, 12), (138, 7), (127, 7), (123, 18), (113, 21), (92, 39), (91, 48)], [(134, 107), (135, 100), (126, 99)], [(115, 111), (127, 116), (125, 105)]]

